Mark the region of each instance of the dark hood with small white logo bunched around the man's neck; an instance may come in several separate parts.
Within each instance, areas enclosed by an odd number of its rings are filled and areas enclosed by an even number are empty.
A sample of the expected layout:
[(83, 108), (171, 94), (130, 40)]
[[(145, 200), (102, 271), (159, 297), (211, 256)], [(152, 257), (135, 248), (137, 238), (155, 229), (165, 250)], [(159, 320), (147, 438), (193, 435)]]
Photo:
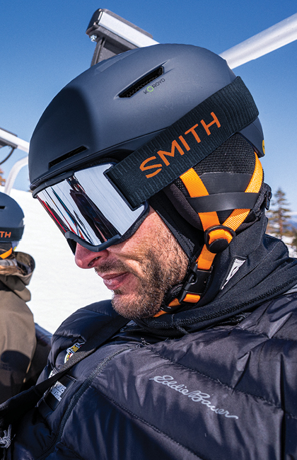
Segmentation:
[(157, 318), (136, 319), (139, 326), (158, 335), (174, 337), (214, 326), (255, 309), (283, 294), (297, 282), (297, 260), (286, 245), (265, 234), (267, 217), (233, 238), (217, 255), (214, 272), (199, 306)]

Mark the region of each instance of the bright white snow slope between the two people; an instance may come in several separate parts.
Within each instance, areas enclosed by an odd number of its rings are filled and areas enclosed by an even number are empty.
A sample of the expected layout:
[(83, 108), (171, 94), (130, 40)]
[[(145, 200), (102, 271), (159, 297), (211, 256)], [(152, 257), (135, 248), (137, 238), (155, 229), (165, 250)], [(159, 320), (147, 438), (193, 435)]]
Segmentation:
[(28, 306), (35, 323), (53, 333), (73, 311), (110, 299), (111, 292), (94, 270), (76, 266), (66, 239), (30, 192), (13, 189), (11, 197), (25, 214), (25, 231), (17, 251), (29, 253), (36, 263)]

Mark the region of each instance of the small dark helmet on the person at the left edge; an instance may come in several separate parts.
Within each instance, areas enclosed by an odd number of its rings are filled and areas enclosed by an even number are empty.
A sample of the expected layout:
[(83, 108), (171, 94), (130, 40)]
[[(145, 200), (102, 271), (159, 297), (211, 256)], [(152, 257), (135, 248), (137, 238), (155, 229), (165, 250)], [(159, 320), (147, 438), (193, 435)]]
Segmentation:
[[(0, 258), (21, 240), (24, 214), (16, 200), (0, 192)], [(7, 254), (8, 255), (8, 254)]]

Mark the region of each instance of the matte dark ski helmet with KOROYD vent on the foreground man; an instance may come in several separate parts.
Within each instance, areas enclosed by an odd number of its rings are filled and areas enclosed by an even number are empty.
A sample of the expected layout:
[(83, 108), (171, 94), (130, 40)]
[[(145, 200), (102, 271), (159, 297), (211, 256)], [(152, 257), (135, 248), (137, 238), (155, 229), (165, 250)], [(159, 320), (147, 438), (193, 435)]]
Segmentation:
[[(101, 157), (124, 158), (234, 80), (224, 59), (192, 45), (153, 45), (96, 64), (40, 118), (30, 141), (31, 189)], [(240, 134), (264, 155), (258, 118)]]

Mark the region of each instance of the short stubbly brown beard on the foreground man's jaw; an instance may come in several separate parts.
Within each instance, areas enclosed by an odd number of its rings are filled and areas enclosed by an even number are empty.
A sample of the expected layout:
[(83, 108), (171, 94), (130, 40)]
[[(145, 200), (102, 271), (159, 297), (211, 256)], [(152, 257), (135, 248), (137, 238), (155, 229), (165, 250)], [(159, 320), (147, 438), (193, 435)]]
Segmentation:
[(100, 265), (100, 272), (129, 272), (137, 278), (133, 296), (123, 296), (121, 289), (115, 289), (112, 298), (115, 311), (130, 319), (146, 318), (158, 313), (165, 293), (185, 277), (188, 262), (169, 231), (165, 236), (156, 238), (153, 248), (136, 255), (135, 260), (141, 263), (141, 275), (121, 260), (113, 263), (106, 261)]

